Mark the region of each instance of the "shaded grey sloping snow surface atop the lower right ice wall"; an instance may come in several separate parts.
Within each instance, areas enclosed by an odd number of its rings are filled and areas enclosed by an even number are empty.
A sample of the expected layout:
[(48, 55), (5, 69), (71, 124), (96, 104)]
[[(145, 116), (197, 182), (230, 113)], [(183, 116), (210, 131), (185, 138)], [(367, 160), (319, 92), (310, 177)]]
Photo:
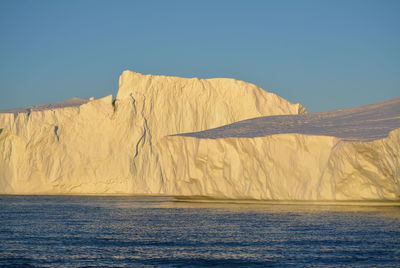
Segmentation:
[(400, 128), (400, 97), (329, 112), (257, 117), (201, 132), (177, 134), (196, 138), (254, 138), (283, 133), (333, 136), (348, 141), (385, 138)]

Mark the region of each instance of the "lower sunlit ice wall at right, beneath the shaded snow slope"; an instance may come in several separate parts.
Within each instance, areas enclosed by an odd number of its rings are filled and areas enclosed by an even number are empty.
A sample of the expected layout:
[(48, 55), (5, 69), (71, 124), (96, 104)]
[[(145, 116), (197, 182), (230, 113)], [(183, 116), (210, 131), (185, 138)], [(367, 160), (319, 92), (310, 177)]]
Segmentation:
[(374, 141), (276, 134), (163, 138), (167, 192), (266, 200), (398, 200), (400, 129)]

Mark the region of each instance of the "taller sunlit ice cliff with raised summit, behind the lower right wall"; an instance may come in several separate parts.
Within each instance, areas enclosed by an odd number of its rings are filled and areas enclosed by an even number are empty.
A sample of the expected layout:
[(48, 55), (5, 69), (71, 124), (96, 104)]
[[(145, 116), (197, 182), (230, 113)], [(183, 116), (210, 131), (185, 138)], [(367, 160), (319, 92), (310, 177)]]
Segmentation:
[(242, 81), (125, 71), (114, 101), (73, 99), (0, 113), (0, 193), (174, 194), (158, 146), (163, 137), (304, 112)]

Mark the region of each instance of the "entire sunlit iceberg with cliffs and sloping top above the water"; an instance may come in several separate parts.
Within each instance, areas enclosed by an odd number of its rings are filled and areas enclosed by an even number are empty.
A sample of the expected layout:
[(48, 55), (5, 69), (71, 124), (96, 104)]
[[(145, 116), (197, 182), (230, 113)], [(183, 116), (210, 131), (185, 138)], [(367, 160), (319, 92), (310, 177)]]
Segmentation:
[(399, 200), (400, 98), (308, 114), (235, 79), (124, 71), (115, 99), (0, 112), (0, 194)]

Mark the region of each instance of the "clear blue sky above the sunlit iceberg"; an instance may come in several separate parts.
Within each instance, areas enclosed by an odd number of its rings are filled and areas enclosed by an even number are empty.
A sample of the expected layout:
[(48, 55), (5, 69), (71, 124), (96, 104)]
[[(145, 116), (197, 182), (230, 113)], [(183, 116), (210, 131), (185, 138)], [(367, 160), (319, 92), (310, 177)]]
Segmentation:
[(309, 111), (400, 95), (400, 1), (0, 0), (0, 109), (102, 97), (130, 69), (233, 77)]

